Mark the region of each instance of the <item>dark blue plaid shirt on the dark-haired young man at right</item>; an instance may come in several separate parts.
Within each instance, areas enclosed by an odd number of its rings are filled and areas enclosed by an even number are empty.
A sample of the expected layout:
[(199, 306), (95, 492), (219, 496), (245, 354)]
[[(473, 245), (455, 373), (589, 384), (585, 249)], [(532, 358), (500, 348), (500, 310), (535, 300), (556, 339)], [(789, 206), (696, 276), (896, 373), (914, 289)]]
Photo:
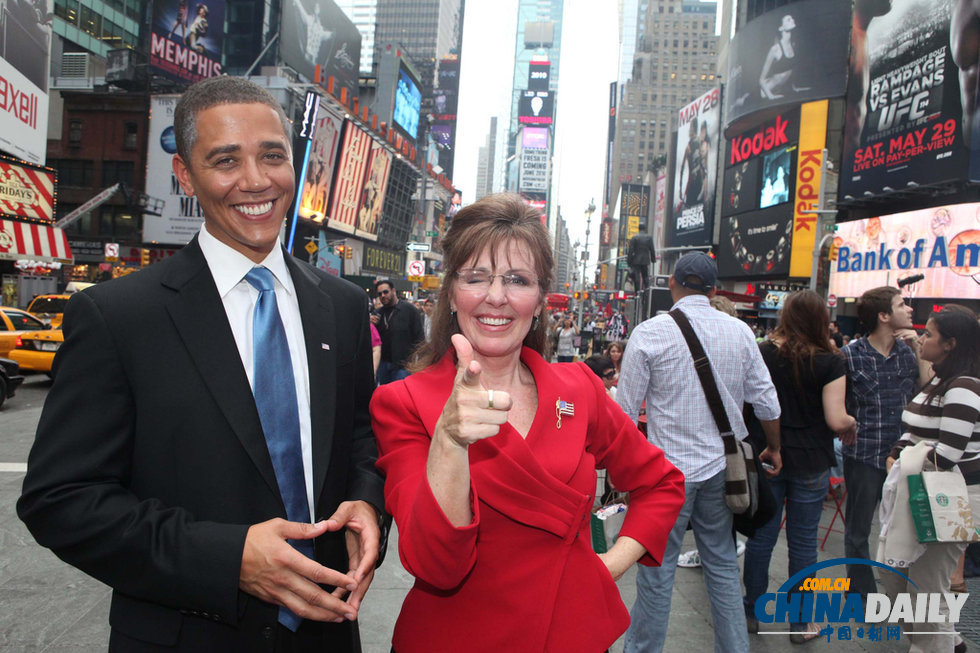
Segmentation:
[(896, 339), (882, 356), (867, 338), (844, 347), (847, 357), (847, 412), (858, 422), (857, 442), (841, 453), (885, 469), (885, 459), (902, 435), (902, 411), (915, 394), (919, 364), (911, 347)]

